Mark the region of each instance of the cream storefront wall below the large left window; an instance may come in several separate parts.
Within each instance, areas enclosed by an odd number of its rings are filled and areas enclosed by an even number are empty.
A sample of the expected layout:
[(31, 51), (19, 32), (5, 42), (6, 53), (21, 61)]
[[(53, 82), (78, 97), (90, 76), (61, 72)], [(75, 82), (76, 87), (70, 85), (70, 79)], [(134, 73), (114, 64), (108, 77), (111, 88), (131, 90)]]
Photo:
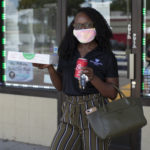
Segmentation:
[(0, 139), (50, 146), (56, 129), (56, 99), (0, 94)]

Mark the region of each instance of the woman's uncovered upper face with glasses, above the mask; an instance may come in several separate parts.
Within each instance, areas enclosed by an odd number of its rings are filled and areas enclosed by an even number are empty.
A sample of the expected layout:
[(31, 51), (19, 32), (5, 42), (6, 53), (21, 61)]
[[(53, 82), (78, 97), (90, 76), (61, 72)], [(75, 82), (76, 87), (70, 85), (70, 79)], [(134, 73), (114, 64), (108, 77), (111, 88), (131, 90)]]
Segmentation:
[(94, 27), (92, 20), (82, 12), (76, 15), (73, 26), (76, 30), (89, 29)]

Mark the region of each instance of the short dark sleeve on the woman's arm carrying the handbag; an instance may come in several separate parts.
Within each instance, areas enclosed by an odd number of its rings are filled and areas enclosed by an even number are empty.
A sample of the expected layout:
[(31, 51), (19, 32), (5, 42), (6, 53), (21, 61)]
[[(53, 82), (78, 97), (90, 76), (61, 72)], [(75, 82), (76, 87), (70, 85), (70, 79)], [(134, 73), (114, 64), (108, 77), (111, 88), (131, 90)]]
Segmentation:
[(110, 53), (107, 55), (106, 61), (106, 78), (107, 77), (118, 77), (118, 65), (115, 55)]

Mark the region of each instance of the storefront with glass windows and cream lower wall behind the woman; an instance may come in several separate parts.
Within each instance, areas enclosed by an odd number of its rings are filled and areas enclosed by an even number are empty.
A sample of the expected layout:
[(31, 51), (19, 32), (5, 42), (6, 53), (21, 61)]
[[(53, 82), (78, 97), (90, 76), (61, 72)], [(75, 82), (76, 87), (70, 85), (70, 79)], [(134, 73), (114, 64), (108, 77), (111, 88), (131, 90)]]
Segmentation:
[[(47, 70), (38, 70), (31, 63), (9, 61), (7, 56), (9, 51), (57, 53), (67, 26), (80, 7), (95, 8), (107, 20), (113, 31), (111, 43), (118, 62), (120, 88), (126, 96), (140, 97), (144, 109), (149, 111), (148, 0), (2, 0), (1, 139), (50, 145), (61, 117), (63, 94), (53, 87)], [(115, 139), (111, 149), (120, 150), (122, 146), (121, 150), (145, 150), (144, 133), (143, 129)]]

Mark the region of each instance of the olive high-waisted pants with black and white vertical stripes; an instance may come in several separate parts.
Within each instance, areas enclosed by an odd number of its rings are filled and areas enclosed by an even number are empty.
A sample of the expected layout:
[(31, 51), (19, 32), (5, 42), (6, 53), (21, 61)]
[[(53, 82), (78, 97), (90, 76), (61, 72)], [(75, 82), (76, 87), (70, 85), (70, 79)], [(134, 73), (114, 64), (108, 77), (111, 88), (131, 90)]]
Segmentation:
[(85, 110), (93, 106), (102, 107), (99, 94), (66, 96), (50, 150), (108, 150), (109, 140), (98, 138), (87, 121)]

